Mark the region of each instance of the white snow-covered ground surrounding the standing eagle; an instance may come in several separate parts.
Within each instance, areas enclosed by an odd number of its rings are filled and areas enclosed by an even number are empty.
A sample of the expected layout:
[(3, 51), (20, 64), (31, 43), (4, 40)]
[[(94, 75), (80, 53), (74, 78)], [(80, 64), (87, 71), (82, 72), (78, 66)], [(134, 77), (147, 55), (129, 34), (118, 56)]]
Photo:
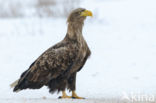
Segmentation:
[[(156, 95), (155, 4), (155, 0), (82, 2), (94, 14), (83, 32), (92, 55), (77, 76), (77, 93), (87, 99), (76, 103)], [(64, 38), (66, 25), (66, 19), (56, 18), (0, 19), (1, 103), (73, 101), (56, 100), (61, 94), (51, 95), (46, 87), (19, 93), (9, 87), (42, 52)]]

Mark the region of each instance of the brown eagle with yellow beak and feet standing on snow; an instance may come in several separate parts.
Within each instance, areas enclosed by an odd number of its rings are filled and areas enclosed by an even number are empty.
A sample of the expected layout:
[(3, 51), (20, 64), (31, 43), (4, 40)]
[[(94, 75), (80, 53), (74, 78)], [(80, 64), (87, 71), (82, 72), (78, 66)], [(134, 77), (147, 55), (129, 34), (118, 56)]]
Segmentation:
[(70, 98), (64, 92), (67, 88), (73, 92), (72, 97), (81, 99), (74, 91), (76, 74), (91, 54), (82, 35), (86, 16), (92, 16), (92, 13), (83, 8), (72, 11), (67, 19), (65, 38), (46, 50), (22, 73), (20, 79), (12, 84), (14, 92), (27, 88), (39, 89), (46, 85), (51, 93), (63, 91), (62, 98)]

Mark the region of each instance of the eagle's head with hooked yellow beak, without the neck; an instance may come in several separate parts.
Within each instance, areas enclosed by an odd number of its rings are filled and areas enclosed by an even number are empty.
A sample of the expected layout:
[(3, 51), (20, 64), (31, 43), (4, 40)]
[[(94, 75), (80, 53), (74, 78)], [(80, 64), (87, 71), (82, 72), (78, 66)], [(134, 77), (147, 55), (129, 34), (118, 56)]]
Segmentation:
[(67, 22), (83, 22), (87, 16), (93, 16), (92, 12), (84, 8), (78, 8), (70, 13)]

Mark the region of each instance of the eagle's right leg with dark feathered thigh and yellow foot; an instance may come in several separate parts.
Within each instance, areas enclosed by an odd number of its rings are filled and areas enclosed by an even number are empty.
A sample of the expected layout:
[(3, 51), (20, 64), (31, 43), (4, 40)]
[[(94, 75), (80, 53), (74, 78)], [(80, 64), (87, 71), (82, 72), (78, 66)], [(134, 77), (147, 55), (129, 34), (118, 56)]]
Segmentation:
[(70, 76), (70, 78), (68, 79), (68, 89), (70, 91), (72, 91), (72, 98), (73, 99), (84, 99), (83, 97), (79, 97), (76, 92), (75, 92), (75, 89), (76, 89), (76, 73), (72, 74)]

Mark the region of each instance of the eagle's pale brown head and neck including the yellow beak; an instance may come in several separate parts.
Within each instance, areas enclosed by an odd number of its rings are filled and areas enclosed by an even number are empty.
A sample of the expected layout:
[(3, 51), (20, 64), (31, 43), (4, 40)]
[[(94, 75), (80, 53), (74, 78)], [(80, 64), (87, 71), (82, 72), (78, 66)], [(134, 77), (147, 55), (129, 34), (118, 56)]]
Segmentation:
[(92, 16), (92, 12), (84, 8), (77, 8), (70, 13), (67, 19), (67, 34), (71, 39), (80, 38), (82, 35), (84, 20), (87, 16)]

